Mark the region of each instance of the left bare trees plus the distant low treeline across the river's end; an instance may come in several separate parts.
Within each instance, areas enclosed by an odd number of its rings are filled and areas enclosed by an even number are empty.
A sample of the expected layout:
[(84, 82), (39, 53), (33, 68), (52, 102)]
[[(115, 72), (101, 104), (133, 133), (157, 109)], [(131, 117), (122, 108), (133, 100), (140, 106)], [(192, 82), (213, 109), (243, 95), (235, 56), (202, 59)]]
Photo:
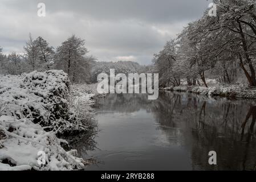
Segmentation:
[(94, 56), (88, 55), (83, 39), (75, 35), (70, 36), (56, 49), (42, 37), (33, 39), (31, 34), (24, 46), (23, 53), (2, 53), (0, 48), (0, 75), (21, 75), (32, 71), (47, 71), (62, 69), (71, 82), (97, 82), (99, 73), (108, 73), (115, 69), (115, 73), (152, 72), (152, 65), (144, 66), (133, 61), (103, 62), (96, 61)]

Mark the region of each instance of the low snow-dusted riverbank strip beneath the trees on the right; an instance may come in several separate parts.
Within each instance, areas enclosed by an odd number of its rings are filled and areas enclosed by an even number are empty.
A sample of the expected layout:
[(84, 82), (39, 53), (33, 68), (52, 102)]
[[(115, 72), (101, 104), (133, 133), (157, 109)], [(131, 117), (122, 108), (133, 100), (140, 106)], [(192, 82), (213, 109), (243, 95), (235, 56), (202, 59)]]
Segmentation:
[(176, 86), (160, 88), (160, 90), (171, 90), (177, 92), (191, 92), (205, 96), (221, 96), (230, 98), (256, 99), (256, 88), (248, 88), (238, 85), (218, 85), (210, 86)]

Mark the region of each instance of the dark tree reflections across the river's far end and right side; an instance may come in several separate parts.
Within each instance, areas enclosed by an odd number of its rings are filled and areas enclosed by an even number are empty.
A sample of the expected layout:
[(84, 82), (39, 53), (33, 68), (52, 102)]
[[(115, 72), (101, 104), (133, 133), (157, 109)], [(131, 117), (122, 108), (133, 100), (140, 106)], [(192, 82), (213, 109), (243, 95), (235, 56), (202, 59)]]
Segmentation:
[[(192, 169), (255, 169), (254, 101), (161, 92), (155, 101), (149, 101), (147, 94), (109, 94), (98, 107), (99, 112), (153, 113), (156, 130), (169, 144), (189, 151)], [(208, 164), (212, 150), (217, 152), (216, 166)]]

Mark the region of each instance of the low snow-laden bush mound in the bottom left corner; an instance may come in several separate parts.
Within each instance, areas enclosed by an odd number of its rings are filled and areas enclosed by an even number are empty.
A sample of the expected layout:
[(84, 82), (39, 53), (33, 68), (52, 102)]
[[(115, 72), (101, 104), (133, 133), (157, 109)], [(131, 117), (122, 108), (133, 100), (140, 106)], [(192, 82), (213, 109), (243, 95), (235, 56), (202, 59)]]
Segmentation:
[[(0, 131), (5, 135), (0, 140), (0, 170), (71, 170), (84, 167), (83, 159), (76, 158), (75, 150), (66, 152), (62, 139), (31, 119), (15, 119), (2, 115)], [(46, 164), (38, 164), (38, 152), (43, 151)]]

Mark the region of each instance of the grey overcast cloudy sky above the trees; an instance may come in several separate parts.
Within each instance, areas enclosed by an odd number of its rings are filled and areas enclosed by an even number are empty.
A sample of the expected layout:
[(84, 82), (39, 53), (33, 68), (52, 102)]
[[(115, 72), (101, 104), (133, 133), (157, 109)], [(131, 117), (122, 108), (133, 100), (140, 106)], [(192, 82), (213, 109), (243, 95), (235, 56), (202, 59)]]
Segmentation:
[[(37, 15), (38, 3), (46, 17)], [(23, 52), (31, 32), (55, 48), (75, 34), (100, 61), (150, 64), (154, 53), (192, 20), (207, 0), (0, 0), (0, 46)]]

